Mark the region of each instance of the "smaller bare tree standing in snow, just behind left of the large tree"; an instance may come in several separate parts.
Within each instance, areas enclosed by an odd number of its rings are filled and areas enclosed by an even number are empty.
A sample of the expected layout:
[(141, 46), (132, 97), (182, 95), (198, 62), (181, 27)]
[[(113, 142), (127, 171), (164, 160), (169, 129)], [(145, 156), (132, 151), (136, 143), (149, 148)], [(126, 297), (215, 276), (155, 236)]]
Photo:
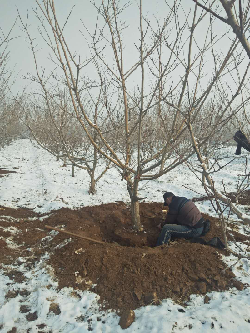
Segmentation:
[(34, 94), (30, 97), (25, 103), (22, 98), (20, 104), (25, 113), (30, 138), (33, 139), (31, 142), (55, 156), (57, 161), (61, 159), (63, 166), (70, 164), (72, 177), (75, 176), (75, 167), (87, 170), (90, 176), (89, 193), (94, 194), (96, 183), (110, 168), (110, 163), (102, 163), (102, 171), (96, 175), (99, 156), (72, 115), (66, 94), (61, 93), (49, 103), (46, 99), (35, 99)]

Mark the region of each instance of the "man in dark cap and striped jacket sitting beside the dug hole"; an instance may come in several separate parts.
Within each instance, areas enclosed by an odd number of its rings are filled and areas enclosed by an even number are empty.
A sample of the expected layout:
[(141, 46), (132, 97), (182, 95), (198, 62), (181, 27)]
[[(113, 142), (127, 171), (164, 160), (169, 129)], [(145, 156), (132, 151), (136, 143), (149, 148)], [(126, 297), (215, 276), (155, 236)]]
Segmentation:
[(163, 195), (164, 206), (169, 211), (164, 223), (157, 225), (161, 230), (156, 246), (167, 244), (171, 236), (199, 237), (204, 229), (204, 219), (196, 205), (184, 196), (175, 196), (172, 192)]

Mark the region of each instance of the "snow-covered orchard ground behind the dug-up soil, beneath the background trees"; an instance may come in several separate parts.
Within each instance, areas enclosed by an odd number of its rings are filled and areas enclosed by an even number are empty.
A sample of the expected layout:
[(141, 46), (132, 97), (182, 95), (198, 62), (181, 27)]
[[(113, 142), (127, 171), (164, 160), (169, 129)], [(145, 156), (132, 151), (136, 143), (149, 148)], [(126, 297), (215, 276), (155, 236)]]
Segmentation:
[[(221, 152), (221, 156), (236, 157), (234, 153), (235, 147), (229, 147)], [(232, 164), (213, 174), (220, 190), (223, 190), (221, 179), (224, 180), (227, 192), (236, 190), (238, 180), (245, 174), (244, 156), (243, 152)], [(225, 159), (222, 163), (226, 164), (230, 160), (231, 158)], [(89, 195), (90, 179), (87, 171), (75, 168), (75, 177), (72, 177), (71, 166), (61, 166), (61, 161), (57, 162), (48, 152), (33, 147), (29, 140), (18, 140), (5, 147), (0, 152), (0, 167), (17, 173), (0, 178), (0, 204), (11, 208), (27, 207), (35, 212), (46, 213), (61, 207), (74, 209), (116, 200), (129, 201), (126, 181), (121, 181), (121, 175), (115, 168), (109, 169), (99, 180), (97, 194)], [(103, 166), (100, 164), (97, 173), (102, 170)], [(163, 201), (165, 191), (188, 198), (201, 196), (192, 190), (206, 195), (199, 180), (185, 164), (158, 179), (141, 181), (139, 188), (142, 188), (140, 196), (148, 197), (148, 202)], [(203, 212), (212, 213), (209, 200), (197, 202), (197, 206)]]

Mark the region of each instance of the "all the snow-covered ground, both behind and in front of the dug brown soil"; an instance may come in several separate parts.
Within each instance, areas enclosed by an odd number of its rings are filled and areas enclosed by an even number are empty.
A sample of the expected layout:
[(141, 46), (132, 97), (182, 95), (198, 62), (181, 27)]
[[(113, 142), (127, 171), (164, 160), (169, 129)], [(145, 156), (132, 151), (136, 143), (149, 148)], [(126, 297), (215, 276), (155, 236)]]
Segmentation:
[[(235, 147), (223, 151), (226, 156), (233, 155)], [(79, 206), (95, 205), (128, 201), (125, 181), (121, 182), (118, 172), (112, 168), (99, 181), (97, 194), (89, 195), (89, 176), (85, 170), (76, 169), (76, 177), (71, 177), (70, 167), (60, 167), (49, 153), (34, 148), (28, 140), (18, 140), (0, 152), (0, 167), (15, 170), (0, 178), (0, 204), (12, 208), (28, 207), (35, 212), (47, 213), (61, 207), (76, 208)], [(18, 169), (13, 169), (18, 167)], [(100, 166), (101, 169), (101, 166)], [(227, 191), (235, 191), (238, 179), (245, 173), (244, 158), (237, 158), (231, 165), (214, 174), (214, 180), (225, 181)], [(143, 185), (143, 182), (141, 182)], [(179, 166), (169, 174), (150, 181), (140, 192), (148, 196), (148, 201), (162, 201), (165, 191), (173, 191), (176, 195), (189, 198), (199, 196), (183, 185), (205, 194), (199, 181), (185, 165)], [(212, 215), (209, 201), (197, 202), (201, 211)], [(243, 208), (243, 207), (242, 207)], [(236, 216), (232, 216), (237, 221)], [(1, 220), (0, 220), (1, 225)], [(244, 226), (250, 231), (249, 226)], [(11, 233), (18, 232), (15, 228), (8, 228)], [(243, 226), (239, 226), (239, 232)], [(54, 233), (55, 234), (55, 233)], [(53, 237), (51, 232), (51, 237)], [(232, 245), (232, 244), (231, 244)], [(243, 250), (247, 245), (240, 244)], [(238, 250), (234, 248), (234, 250)], [(19, 258), (22, 265), (2, 265), (3, 268), (20, 271), (27, 282), (13, 283), (4, 274), (0, 274), (0, 330), (7, 333), (13, 327), (17, 332), (122, 332), (118, 325), (119, 317), (111, 311), (102, 311), (97, 303), (98, 295), (84, 291), (79, 292), (81, 298), (76, 297), (72, 288), (64, 288), (58, 292), (58, 282), (52, 270), (46, 264), (46, 253), (36, 262), (35, 268), (27, 267), (28, 258)], [(228, 265), (236, 262), (233, 255), (221, 257)], [(242, 267), (240, 267), (242, 265)], [(240, 269), (239, 269), (240, 267)], [(249, 260), (241, 259), (233, 267), (237, 279), (250, 285)], [(1, 270), (3, 273), (3, 269)], [(9, 283), (11, 289), (9, 289)], [(51, 287), (46, 288), (48, 285)], [(27, 290), (27, 295), (19, 294), (15, 298), (6, 300), (5, 295), (10, 290)], [(30, 293), (30, 294), (29, 294)], [(243, 333), (250, 331), (250, 287), (238, 291), (233, 288), (226, 292), (211, 292), (209, 304), (204, 304), (204, 296), (192, 295), (191, 301), (185, 307), (185, 312), (179, 312), (181, 306), (166, 299), (159, 306), (149, 305), (135, 310), (135, 321), (126, 330), (128, 333), (163, 333), (163, 332), (227, 332)], [(19, 301), (22, 301), (21, 303)], [(58, 304), (61, 313), (47, 315), (50, 304)], [(27, 322), (26, 313), (21, 313), (19, 307), (27, 305), (30, 312), (36, 312), (37, 319)], [(97, 317), (101, 320), (97, 320)], [(86, 320), (87, 319), (87, 320)], [(45, 324), (45, 327), (37, 326)], [(43, 325), (42, 325), (43, 326)], [(28, 331), (28, 329), (30, 329)]]

